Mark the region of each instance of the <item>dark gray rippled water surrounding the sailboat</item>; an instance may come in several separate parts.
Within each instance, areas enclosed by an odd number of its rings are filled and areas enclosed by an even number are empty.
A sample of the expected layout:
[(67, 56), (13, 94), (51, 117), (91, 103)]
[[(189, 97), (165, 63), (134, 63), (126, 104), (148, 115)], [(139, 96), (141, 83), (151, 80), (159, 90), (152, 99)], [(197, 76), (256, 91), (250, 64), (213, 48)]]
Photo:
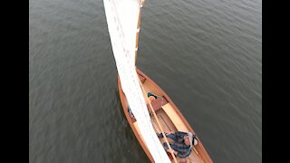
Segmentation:
[[(137, 65), (215, 162), (262, 162), (262, 1), (147, 0)], [(102, 0), (29, 1), (29, 162), (149, 162), (117, 88)]]

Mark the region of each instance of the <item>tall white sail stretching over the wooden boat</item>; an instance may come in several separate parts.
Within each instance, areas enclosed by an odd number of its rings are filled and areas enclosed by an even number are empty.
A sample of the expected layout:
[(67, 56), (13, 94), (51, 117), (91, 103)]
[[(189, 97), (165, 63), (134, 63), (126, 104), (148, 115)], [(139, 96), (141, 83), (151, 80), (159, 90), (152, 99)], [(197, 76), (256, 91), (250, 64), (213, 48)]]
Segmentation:
[(153, 129), (134, 63), (140, 1), (103, 0), (103, 2), (121, 88), (138, 121), (140, 134), (155, 162), (170, 162)]

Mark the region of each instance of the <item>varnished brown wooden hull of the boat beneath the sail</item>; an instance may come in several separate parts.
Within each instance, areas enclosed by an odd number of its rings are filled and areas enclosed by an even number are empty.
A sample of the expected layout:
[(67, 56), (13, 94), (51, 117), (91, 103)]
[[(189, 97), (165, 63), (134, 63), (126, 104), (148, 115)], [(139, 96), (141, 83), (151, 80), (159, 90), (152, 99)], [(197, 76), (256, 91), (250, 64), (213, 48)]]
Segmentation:
[[(152, 101), (151, 104), (160, 120), (160, 124), (164, 131), (190, 131), (195, 134), (195, 131), (190, 127), (189, 122), (183, 117), (177, 106), (173, 103), (173, 101), (170, 100), (169, 96), (160, 89), (160, 87), (153, 82), (146, 74), (141, 72), (139, 69), (137, 69), (137, 73), (140, 77), (140, 81), (143, 83), (143, 87), (146, 91), (153, 92), (154, 94), (158, 95), (159, 98), (155, 101)], [(150, 158), (151, 162), (154, 162), (149, 149), (147, 149), (145, 142), (143, 141), (142, 137), (140, 136), (140, 131), (138, 128), (138, 121), (136, 121), (134, 118), (131, 118), (131, 115), (128, 111), (128, 103), (126, 100), (126, 97), (121, 90), (121, 82), (120, 78), (118, 76), (118, 88), (121, 98), (121, 105), (124, 110), (125, 116), (127, 120), (129, 121), (129, 124), (131, 126), (131, 129), (133, 130), (136, 138), (140, 142), (140, 146), (145, 151), (147, 156)], [(151, 116), (151, 121), (153, 128), (156, 132), (160, 132), (160, 129), (158, 128), (158, 125), (156, 123), (156, 120), (154, 119), (153, 115)], [(205, 163), (211, 163), (213, 162), (212, 159), (209, 157), (207, 150), (203, 147), (200, 139), (198, 138), (199, 142), (198, 145), (195, 146), (195, 149), (197, 149), (199, 156), (197, 155), (197, 152), (195, 150), (192, 150), (189, 157), (186, 158), (189, 160), (189, 162), (205, 162)], [(160, 143), (163, 144), (163, 140), (160, 139)], [(178, 158), (178, 161), (182, 160), (182, 158)], [(184, 160), (184, 159), (183, 159)], [(173, 159), (171, 160), (173, 162)]]

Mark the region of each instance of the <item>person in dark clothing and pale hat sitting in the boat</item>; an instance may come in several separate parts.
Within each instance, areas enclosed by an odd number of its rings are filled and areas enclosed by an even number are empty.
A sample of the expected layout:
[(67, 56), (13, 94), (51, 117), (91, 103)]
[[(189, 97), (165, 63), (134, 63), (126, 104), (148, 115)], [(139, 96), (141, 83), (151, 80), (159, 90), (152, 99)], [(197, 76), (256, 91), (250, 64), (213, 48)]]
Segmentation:
[[(198, 144), (198, 139), (196, 138), (196, 135), (192, 134), (191, 132), (165, 132), (165, 135), (167, 138), (174, 141), (174, 143), (169, 143), (169, 145), (173, 150), (173, 153), (179, 158), (188, 157), (190, 155), (192, 147)], [(157, 136), (159, 138), (163, 138), (162, 133), (158, 133)], [(164, 143), (163, 147), (167, 152), (170, 152), (167, 143)]]

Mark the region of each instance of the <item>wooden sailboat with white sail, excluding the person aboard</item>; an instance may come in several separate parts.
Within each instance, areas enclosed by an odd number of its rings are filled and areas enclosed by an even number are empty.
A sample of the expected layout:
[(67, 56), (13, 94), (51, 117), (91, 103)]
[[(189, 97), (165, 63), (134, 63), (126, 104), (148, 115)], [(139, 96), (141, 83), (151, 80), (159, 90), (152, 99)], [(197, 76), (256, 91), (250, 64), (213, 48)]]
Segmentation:
[[(121, 105), (140, 146), (151, 162), (211, 163), (207, 150), (197, 136), (189, 156), (179, 158), (173, 152), (166, 132), (196, 132), (170, 100), (169, 96), (150, 77), (136, 66), (140, 14), (145, 0), (103, 0), (111, 47), (118, 70), (118, 89)], [(159, 138), (161, 133), (163, 138)], [(166, 144), (169, 151), (163, 148)]]

